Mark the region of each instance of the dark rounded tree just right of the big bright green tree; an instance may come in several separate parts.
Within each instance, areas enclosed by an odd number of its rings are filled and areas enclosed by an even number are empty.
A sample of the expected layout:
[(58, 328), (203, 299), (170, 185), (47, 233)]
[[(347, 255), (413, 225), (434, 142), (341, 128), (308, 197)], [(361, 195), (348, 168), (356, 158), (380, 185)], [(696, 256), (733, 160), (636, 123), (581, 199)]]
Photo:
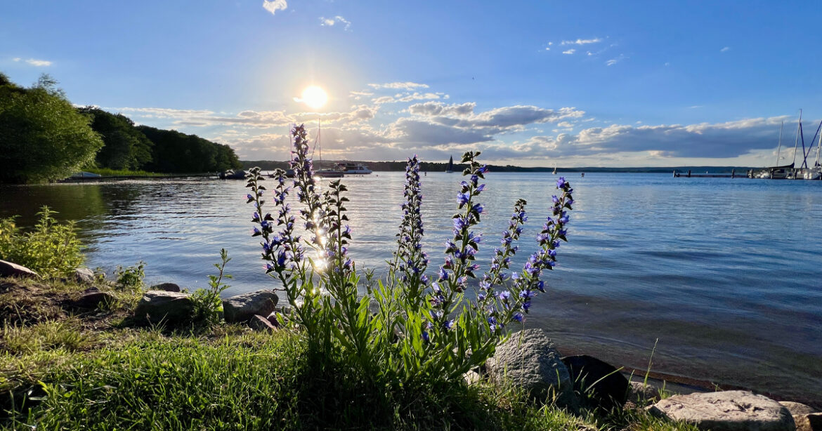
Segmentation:
[(91, 128), (99, 133), (104, 147), (97, 153), (97, 166), (138, 170), (151, 161), (154, 144), (122, 114), (87, 106), (78, 112), (92, 118)]

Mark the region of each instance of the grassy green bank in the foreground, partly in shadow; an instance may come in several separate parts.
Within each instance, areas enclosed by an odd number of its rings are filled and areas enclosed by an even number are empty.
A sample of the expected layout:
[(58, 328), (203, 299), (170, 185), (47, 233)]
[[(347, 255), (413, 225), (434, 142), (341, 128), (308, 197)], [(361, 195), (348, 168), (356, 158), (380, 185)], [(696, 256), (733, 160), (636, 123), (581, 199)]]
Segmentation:
[(307, 358), (298, 332), (140, 326), (129, 291), (72, 309), (83, 288), (0, 279), (3, 429), (687, 429), (572, 415), (490, 383), (395, 387)]

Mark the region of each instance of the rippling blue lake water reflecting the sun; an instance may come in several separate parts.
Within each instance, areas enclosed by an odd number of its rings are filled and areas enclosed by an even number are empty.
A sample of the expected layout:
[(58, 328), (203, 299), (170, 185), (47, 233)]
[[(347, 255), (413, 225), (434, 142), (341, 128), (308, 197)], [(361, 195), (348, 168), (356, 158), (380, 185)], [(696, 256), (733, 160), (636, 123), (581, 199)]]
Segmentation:
[[(822, 181), (569, 174), (569, 243), (526, 327), (563, 351), (617, 365), (822, 401)], [(450, 236), (458, 174), (423, 177), (432, 269)], [(358, 268), (385, 273), (402, 172), (346, 177)], [(482, 195), (486, 264), (515, 199), (529, 202), (520, 263), (553, 192), (550, 173), (495, 173)], [(244, 181), (118, 181), (0, 187), (0, 217), (41, 205), (78, 222), (91, 268), (145, 261), (146, 281), (205, 287), (225, 248), (226, 295), (276, 287), (263, 273)]]

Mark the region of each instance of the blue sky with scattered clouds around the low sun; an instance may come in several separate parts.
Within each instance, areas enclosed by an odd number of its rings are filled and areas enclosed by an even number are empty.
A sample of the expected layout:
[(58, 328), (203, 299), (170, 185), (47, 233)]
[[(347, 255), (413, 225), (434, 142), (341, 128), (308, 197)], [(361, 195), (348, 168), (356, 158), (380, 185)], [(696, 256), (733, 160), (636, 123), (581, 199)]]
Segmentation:
[(799, 110), (806, 146), (822, 118), (815, 1), (3, 3), (16, 83), (48, 73), (72, 103), (243, 160), (285, 160), (289, 128), (319, 122), (324, 158), (770, 166), (783, 122), (779, 164)]

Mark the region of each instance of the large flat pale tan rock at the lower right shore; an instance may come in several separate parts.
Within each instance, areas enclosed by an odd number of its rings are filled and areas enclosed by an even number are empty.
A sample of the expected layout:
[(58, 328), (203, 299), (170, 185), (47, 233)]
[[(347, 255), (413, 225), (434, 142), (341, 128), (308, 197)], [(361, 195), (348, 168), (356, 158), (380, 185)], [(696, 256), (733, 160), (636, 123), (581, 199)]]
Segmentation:
[(794, 431), (791, 412), (777, 401), (747, 391), (676, 395), (649, 407), (652, 414), (711, 431)]

